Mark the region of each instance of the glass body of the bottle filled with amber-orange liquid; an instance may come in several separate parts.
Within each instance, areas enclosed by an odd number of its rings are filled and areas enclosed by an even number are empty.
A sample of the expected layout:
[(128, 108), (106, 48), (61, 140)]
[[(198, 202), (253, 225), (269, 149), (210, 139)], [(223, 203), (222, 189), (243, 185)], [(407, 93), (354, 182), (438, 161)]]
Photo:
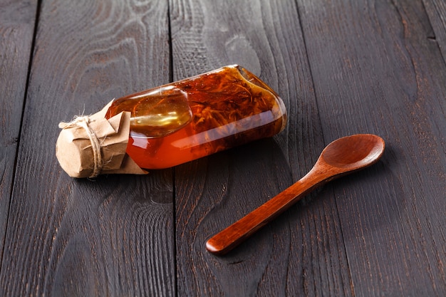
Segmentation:
[(286, 125), (281, 98), (240, 66), (113, 101), (106, 118), (129, 111), (127, 154), (145, 169), (173, 167), (276, 135)]

